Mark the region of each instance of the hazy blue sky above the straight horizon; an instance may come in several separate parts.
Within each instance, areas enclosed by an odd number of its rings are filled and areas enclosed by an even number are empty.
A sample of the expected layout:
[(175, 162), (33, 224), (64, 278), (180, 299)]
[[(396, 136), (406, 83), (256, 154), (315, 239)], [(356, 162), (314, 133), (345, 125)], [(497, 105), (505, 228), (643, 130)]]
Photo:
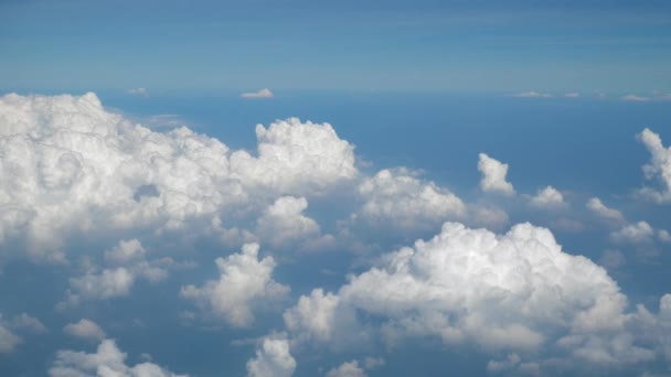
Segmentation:
[(663, 1), (4, 1), (7, 87), (669, 90)]

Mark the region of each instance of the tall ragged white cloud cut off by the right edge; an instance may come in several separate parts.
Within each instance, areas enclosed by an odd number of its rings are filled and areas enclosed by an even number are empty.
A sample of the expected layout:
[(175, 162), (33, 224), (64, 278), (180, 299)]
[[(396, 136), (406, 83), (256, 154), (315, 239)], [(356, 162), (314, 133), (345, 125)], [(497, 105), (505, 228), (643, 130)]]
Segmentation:
[(661, 190), (645, 187), (640, 193), (657, 203), (671, 203), (671, 147), (665, 148), (660, 136), (647, 128), (638, 138), (651, 154), (650, 162), (643, 165), (643, 173), (648, 180), (654, 179), (661, 184)]

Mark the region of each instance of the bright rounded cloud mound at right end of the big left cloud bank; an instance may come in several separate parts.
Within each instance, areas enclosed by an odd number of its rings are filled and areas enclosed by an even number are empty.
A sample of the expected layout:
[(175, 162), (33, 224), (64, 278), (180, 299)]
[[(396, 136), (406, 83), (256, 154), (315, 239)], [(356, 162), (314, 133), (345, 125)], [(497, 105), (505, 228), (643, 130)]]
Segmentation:
[(231, 169), (245, 183), (283, 193), (313, 193), (353, 179), (354, 147), (329, 123), (302, 123), (298, 118), (256, 126), (258, 157), (231, 155)]

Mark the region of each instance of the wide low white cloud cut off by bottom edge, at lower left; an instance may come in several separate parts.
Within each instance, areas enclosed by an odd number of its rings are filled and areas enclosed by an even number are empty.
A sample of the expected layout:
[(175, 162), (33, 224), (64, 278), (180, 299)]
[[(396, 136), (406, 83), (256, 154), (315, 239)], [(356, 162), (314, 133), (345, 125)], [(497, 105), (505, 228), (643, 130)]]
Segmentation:
[(51, 377), (118, 376), (118, 377), (179, 377), (152, 363), (126, 365), (126, 354), (113, 340), (105, 340), (96, 353), (58, 351), (49, 369)]

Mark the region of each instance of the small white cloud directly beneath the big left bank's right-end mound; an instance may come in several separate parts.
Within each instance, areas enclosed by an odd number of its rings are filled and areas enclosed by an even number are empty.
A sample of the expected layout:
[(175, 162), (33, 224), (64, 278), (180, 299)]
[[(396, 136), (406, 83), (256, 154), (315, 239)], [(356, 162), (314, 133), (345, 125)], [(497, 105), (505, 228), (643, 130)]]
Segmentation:
[(279, 197), (258, 218), (256, 234), (274, 246), (313, 238), (320, 233), (319, 225), (302, 214), (307, 208), (305, 197)]

